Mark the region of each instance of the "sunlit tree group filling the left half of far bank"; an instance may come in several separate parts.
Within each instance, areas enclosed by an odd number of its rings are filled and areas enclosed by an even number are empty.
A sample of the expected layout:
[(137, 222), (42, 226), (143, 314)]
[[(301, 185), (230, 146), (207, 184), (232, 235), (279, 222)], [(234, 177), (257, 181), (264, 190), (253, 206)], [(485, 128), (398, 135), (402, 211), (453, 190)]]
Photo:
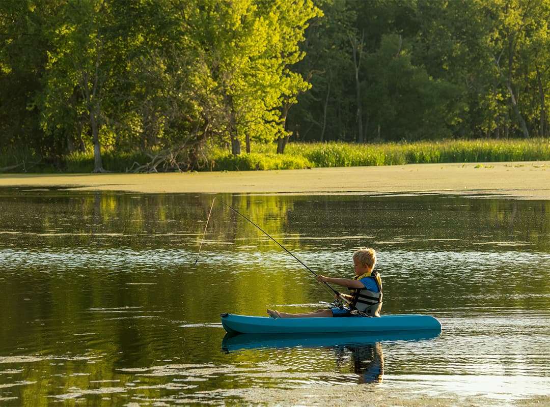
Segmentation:
[[(17, 103), (0, 105), (2, 141), (30, 139), (50, 157), (93, 148), (94, 171), (102, 148), (185, 149), (187, 168), (206, 140), (234, 154), (271, 142), (285, 134), (283, 105), (309, 87), (289, 66), (317, 15), (310, 0), (3, 3), (0, 88)], [(26, 98), (10, 83), (29, 87)]]

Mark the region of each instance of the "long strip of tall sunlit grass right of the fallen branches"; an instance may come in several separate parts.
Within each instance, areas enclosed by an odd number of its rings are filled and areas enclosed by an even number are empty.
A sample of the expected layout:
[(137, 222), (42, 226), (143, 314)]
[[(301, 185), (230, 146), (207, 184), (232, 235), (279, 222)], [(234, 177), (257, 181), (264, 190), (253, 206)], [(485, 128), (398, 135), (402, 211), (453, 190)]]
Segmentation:
[(275, 147), (239, 157), (215, 150), (213, 170), (267, 170), (315, 167), (478, 163), (550, 160), (550, 141), (471, 140), (415, 143), (290, 143), (283, 155)]

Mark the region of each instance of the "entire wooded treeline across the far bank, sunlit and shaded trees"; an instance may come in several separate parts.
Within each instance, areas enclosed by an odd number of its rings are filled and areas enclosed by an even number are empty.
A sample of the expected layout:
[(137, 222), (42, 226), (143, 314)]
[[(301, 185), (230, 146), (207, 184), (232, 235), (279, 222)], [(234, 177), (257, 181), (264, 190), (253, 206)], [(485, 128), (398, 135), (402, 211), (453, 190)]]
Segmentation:
[(550, 136), (550, 0), (19, 0), (0, 21), (15, 160)]

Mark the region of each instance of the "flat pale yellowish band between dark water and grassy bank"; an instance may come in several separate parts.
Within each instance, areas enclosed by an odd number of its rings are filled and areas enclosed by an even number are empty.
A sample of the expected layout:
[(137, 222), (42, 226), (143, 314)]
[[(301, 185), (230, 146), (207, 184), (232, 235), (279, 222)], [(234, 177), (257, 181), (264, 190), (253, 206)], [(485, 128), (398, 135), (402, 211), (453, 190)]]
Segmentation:
[(550, 199), (550, 161), (158, 174), (5, 174), (0, 187), (134, 193), (455, 194)]

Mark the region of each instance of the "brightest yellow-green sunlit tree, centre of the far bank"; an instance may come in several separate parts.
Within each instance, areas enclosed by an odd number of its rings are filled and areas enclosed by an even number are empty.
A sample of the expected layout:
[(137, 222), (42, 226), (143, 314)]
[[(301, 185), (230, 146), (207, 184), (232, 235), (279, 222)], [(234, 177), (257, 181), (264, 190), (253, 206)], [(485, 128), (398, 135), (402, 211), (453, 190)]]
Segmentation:
[[(193, 46), (194, 94), (209, 131), (232, 153), (253, 140), (284, 134), (281, 106), (307, 87), (287, 66), (302, 57), (298, 42), (318, 13), (309, 0), (204, 2), (186, 10)], [(200, 85), (202, 84), (202, 85)]]

